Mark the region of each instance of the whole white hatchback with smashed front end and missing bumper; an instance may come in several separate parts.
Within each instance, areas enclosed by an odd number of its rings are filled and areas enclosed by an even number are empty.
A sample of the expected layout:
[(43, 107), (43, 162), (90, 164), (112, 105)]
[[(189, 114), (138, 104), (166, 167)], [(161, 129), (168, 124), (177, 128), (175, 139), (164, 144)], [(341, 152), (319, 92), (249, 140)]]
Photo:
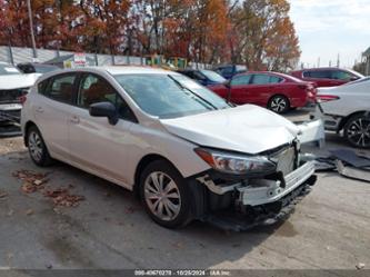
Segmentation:
[(300, 158), (299, 127), (160, 69), (44, 75), (21, 125), (37, 165), (62, 160), (137, 191), (151, 218), (170, 228), (220, 210), (277, 215), (316, 181), (312, 161)]

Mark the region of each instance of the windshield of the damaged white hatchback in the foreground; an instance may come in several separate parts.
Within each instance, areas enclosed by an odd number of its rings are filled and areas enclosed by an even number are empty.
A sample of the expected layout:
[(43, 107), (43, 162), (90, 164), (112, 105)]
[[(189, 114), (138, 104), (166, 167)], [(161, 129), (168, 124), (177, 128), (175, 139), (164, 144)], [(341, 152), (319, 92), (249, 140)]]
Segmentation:
[(176, 118), (230, 106), (220, 97), (181, 75), (137, 73), (114, 76), (147, 113)]

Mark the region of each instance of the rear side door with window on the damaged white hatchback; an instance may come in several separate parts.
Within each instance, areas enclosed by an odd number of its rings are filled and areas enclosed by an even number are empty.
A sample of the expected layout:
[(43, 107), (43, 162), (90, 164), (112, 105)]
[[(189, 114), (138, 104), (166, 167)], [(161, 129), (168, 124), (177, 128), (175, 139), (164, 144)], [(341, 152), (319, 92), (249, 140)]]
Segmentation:
[[(58, 158), (68, 159), (68, 120), (76, 95), (78, 73), (62, 73), (41, 82), (33, 101), (36, 123), (49, 148)], [(41, 86), (42, 85), (42, 86)]]

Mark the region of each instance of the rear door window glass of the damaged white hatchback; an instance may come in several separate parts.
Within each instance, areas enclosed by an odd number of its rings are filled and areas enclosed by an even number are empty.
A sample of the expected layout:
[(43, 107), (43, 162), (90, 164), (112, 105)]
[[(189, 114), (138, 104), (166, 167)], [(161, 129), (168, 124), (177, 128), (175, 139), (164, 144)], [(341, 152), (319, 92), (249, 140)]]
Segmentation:
[(60, 102), (72, 103), (76, 77), (76, 73), (53, 77), (43, 95)]

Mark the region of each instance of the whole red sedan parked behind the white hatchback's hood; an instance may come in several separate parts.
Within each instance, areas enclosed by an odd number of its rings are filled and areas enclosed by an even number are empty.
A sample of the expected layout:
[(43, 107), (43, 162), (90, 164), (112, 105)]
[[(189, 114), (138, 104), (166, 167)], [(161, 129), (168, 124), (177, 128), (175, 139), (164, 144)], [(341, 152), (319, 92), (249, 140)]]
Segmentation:
[(209, 89), (237, 105), (254, 103), (278, 113), (314, 103), (317, 93), (312, 82), (283, 73), (251, 71), (234, 76), (226, 85), (209, 86)]

